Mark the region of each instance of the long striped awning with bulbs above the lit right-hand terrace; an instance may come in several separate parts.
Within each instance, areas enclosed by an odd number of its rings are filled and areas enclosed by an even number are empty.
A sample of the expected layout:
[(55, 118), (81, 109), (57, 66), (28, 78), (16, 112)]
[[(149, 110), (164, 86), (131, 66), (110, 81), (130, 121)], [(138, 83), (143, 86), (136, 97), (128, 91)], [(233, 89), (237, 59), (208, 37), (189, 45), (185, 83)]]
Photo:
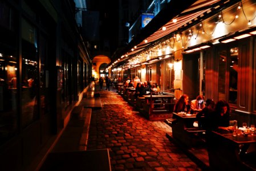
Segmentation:
[[(137, 44), (128, 52), (125, 52), (114, 63), (119, 63), (125, 59), (129, 59), (132, 56), (140, 54), (141, 52), (148, 50), (160, 43), (164, 39), (168, 39), (176, 32), (188, 29), (202, 21), (203, 18), (209, 17), (210, 15), (216, 14), (227, 6), (233, 5), (240, 1), (228, 1), (228, 0), (199, 0), (194, 2), (188, 9), (182, 11), (176, 17), (170, 19), (164, 26), (159, 30), (153, 32), (150, 36), (144, 39), (142, 42)], [(147, 27), (147, 26), (146, 26)]]

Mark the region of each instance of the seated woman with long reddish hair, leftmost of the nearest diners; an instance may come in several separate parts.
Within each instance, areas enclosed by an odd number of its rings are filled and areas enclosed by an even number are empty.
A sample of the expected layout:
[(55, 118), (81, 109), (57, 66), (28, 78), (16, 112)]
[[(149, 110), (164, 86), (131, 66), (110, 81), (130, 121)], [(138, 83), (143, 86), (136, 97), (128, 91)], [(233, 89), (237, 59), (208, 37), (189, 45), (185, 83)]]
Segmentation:
[(190, 105), (188, 103), (189, 96), (188, 95), (182, 95), (180, 99), (178, 99), (177, 103), (174, 105), (173, 112), (186, 112), (190, 113)]

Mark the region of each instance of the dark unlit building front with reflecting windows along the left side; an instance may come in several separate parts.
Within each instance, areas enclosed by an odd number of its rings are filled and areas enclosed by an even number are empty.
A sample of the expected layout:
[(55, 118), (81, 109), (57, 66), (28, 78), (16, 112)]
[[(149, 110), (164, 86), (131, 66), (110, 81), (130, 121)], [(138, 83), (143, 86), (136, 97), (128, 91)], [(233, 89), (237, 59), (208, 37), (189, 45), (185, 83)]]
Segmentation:
[(82, 99), (91, 60), (74, 1), (0, 1), (0, 13), (0, 170), (29, 170)]

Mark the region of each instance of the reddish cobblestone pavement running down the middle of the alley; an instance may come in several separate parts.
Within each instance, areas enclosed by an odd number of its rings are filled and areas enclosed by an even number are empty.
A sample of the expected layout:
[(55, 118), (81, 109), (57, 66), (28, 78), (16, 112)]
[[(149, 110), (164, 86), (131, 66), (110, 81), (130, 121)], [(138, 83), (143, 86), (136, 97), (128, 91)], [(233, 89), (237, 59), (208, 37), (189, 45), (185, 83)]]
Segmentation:
[(102, 109), (92, 112), (88, 150), (108, 148), (112, 170), (201, 170), (167, 139), (169, 125), (145, 119), (113, 91), (100, 91)]

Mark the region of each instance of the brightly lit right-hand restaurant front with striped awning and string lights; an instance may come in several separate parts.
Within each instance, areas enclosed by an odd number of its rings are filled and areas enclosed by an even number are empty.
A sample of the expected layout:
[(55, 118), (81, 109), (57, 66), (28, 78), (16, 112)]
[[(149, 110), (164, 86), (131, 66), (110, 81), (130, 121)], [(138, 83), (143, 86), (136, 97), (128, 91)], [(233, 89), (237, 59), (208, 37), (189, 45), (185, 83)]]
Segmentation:
[(187, 94), (190, 100), (225, 100), (231, 120), (255, 124), (255, 9), (251, 0), (195, 1), (120, 54), (109, 75), (139, 76), (162, 91), (175, 89), (176, 99)]

